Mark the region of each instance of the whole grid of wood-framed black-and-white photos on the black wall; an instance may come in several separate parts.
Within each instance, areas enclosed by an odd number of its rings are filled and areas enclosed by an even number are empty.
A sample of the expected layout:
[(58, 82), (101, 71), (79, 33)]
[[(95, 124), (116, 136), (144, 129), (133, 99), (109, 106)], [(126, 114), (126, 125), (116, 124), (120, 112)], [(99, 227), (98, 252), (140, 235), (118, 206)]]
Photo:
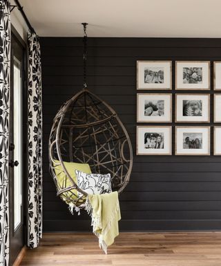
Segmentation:
[(219, 140), (221, 62), (137, 61), (137, 155), (221, 155)]

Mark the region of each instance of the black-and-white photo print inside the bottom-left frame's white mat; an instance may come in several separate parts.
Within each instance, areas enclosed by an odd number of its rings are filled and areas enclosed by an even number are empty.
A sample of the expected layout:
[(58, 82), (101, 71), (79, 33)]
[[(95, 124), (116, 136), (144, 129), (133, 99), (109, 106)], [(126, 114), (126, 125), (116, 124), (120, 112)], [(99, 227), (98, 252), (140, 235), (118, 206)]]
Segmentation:
[(163, 149), (164, 132), (146, 132), (144, 134), (145, 149)]

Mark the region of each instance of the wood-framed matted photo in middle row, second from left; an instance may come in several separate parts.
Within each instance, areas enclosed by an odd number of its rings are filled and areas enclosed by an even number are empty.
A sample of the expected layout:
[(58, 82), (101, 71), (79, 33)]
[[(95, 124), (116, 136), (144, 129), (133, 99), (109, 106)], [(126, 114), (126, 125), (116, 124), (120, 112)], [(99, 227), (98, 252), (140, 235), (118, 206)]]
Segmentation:
[(209, 123), (209, 111), (209, 94), (176, 94), (175, 96), (175, 122)]

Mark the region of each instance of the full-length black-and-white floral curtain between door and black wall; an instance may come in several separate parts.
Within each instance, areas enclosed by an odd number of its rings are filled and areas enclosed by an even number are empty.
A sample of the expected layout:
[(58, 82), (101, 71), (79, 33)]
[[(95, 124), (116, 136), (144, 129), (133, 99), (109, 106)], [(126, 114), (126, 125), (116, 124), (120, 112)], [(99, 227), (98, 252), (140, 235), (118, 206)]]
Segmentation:
[(42, 105), (39, 37), (28, 36), (28, 247), (42, 233)]

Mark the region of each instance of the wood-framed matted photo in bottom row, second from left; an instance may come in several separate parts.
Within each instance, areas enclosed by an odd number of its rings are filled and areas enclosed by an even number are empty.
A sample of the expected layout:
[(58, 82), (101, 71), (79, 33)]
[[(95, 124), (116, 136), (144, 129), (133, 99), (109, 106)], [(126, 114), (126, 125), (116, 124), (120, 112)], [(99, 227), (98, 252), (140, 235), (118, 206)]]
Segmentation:
[(210, 155), (210, 127), (175, 127), (175, 155)]

